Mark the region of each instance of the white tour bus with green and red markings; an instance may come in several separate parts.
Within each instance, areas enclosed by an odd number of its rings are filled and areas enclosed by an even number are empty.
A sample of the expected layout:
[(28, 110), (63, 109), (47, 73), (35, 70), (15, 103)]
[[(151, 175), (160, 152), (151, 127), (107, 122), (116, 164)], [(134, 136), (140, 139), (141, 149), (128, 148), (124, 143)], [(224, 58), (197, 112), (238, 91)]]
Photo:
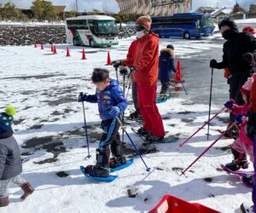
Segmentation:
[(66, 19), (67, 43), (90, 47), (119, 44), (115, 19), (108, 15), (82, 15)]

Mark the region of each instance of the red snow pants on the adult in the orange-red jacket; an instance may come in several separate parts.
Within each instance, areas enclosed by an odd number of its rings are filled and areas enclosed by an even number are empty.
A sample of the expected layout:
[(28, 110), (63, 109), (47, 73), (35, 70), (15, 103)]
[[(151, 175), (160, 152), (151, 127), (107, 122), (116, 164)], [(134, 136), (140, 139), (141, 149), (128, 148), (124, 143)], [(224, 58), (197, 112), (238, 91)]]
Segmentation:
[(156, 84), (147, 85), (137, 82), (137, 100), (143, 116), (143, 128), (154, 136), (166, 135), (158, 108), (156, 107)]

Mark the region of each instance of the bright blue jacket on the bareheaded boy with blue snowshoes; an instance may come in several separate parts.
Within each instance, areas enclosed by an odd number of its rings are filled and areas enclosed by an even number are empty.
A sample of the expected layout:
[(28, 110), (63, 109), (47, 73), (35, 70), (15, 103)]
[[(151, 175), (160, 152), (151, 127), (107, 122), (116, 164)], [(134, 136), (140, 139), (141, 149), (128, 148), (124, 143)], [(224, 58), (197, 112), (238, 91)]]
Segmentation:
[(96, 95), (87, 95), (84, 101), (98, 103), (98, 110), (102, 120), (113, 119), (109, 114), (111, 107), (119, 107), (120, 113), (124, 112), (127, 107), (127, 100), (123, 90), (119, 88), (116, 80), (110, 79), (110, 85), (103, 91), (96, 89)]

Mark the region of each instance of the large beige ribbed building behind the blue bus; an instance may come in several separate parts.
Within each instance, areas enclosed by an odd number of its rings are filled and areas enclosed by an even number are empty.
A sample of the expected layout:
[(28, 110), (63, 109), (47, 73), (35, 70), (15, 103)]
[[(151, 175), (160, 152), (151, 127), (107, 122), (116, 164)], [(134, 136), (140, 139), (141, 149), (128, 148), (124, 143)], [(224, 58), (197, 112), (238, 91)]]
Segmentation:
[(116, 0), (120, 14), (170, 15), (188, 13), (192, 0)]

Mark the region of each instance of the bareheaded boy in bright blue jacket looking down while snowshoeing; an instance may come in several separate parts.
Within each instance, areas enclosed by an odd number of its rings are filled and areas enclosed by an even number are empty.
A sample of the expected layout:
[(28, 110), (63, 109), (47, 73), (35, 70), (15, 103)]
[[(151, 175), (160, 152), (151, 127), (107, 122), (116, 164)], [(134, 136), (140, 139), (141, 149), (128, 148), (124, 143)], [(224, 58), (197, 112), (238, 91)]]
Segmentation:
[[(114, 168), (126, 164), (119, 136), (119, 122), (116, 117), (125, 111), (127, 101), (122, 89), (119, 88), (119, 83), (109, 79), (108, 70), (94, 69), (91, 80), (96, 84), (96, 94), (79, 95), (79, 101), (98, 103), (103, 135), (96, 149), (96, 165), (86, 166), (85, 173), (90, 176), (108, 177), (109, 167)], [(114, 156), (110, 161), (109, 146)]]

